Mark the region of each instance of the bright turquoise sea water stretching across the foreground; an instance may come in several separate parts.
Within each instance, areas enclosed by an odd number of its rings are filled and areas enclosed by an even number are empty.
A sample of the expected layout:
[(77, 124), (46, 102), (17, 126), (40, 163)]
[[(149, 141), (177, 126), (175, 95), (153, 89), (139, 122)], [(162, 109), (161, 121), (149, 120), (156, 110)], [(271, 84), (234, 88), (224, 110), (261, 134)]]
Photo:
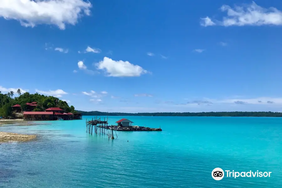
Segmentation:
[[(39, 134), (0, 145), (0, 187), (282, 187), (282, 118), (109, 117), (163, 129), (117, 132), (110, 141), (88, 135), (85, 118), (0, 127)], [(216, 181), (216, 167), (272, 173)]]

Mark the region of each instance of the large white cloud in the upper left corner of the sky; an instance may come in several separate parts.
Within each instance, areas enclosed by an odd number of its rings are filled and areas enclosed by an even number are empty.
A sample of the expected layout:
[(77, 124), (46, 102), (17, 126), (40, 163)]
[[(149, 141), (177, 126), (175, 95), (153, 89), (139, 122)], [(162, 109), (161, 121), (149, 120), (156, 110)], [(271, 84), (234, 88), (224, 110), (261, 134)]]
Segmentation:
[(83, 0), (1, 0), (0, 17), (18, 20), (24, 27), (38, 24), (75, 25), (83, 15), (90, 15), (90, 2)]

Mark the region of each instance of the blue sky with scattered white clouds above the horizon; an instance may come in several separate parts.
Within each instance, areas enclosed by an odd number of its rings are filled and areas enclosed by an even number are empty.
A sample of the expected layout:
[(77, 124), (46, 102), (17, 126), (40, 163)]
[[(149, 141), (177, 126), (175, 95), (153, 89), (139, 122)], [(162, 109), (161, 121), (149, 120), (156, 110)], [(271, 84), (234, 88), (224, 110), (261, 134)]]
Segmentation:
[(280, 0), (1, 0), (0, 25), (2, 93), (83, 111), (282, 111)]

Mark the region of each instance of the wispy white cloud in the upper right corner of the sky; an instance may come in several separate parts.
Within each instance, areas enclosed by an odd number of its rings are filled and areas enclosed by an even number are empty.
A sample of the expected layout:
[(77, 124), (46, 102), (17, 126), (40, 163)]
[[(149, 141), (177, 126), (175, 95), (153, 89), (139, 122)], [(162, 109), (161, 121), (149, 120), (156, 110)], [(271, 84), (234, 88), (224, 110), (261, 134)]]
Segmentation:
[[(282, 25), (282, 12), (277, 8), (263, 8), (255, 2), (235, 6), (231, 8), (228, 5), (221, 7), (222, 12), (227, 12), (227, 16), (222, 18), (222, 21), (209, 18), (203, 18), (203, 26), (222, 25), (222, 26), (261, 26), (261, 25)], [(202, 20), (203, 21), (203, 20)], [(213, 23), (213, 24), (211, 24)]]

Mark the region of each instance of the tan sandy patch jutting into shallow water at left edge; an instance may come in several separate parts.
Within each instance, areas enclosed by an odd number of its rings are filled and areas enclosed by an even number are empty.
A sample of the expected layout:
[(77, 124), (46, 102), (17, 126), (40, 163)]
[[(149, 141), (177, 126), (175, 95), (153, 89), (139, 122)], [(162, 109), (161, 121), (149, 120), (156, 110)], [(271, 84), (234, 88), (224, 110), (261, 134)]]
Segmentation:
[(9, 141), (29, 141), (34, 138), (36, 138), (36, 135), (0, 132), (0, 143)]

